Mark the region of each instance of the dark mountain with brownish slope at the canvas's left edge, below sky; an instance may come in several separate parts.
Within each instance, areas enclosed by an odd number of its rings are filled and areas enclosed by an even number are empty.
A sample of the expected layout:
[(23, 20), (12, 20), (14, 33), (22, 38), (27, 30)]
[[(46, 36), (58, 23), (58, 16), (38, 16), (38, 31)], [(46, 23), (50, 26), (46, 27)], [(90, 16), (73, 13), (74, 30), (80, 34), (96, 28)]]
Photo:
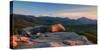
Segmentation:
[(20, 14), (11, 14), (10, 16), (13, 18), (13, 23), (16, 28), (31, 27), (40, 23), (35, 16)]

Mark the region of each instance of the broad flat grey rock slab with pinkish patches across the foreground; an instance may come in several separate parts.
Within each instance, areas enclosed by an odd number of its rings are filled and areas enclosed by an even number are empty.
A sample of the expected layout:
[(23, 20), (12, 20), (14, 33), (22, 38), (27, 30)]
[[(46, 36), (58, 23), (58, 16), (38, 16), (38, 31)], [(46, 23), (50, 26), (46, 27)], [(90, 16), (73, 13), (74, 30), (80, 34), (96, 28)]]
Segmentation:
[(85, 36), (80, 36), (74, 32), (56, 32), (41, 34), (36, 39), (19, 41), (19, 46), (15, 49), (23, 48), (42, 48), (42, 47), (61, 47), (61, 46), (76, 46), (76, 45), (90, 45), (92, 44)]

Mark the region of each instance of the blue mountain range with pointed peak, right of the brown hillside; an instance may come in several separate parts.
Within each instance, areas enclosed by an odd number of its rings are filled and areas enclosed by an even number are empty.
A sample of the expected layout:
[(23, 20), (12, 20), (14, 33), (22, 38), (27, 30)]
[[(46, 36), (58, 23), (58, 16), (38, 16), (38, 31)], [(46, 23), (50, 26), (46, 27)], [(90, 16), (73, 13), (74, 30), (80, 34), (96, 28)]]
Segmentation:
[(92, 20), (86, 17), (81, 17), (77, 20), (69, 18), (50, 17), (50, 16), (41, 16), (38, 18), (46, 21), (47, 23), (59, 22), (66, 25), (97, 24), (97, 20)]

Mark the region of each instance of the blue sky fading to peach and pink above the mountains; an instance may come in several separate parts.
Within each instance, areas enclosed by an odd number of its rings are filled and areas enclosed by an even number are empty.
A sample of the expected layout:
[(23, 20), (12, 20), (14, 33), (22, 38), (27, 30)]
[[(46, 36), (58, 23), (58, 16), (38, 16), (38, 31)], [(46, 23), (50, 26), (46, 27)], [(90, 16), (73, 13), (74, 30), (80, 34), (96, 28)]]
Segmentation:
[(34, 15), (37, 17), (52, 16), (62, 18), (68, 17), (70, 19), (86, 17), (97, 19), (97, 6), (94, 5), (14, 1), (12, 9), (14, 14)]

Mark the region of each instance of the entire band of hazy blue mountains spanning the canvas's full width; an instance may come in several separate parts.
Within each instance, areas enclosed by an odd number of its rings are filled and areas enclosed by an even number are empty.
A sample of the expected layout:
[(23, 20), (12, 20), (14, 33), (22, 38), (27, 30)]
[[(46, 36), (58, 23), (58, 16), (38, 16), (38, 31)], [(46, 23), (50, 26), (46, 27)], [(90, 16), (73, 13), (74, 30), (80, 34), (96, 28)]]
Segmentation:
[(20, 14), (11, 14), (13, 15), (15, 20), (22, 20), (28, 23), (40, 23), (51, 25), (53, 23), (59, 22), (66, 25), (79, 25), (79, 24), (96, 24), (97, 20), (89, 19), (86, 17), (81, 17), (78, 19), (70, 19), (70, 18), (60, 18), (60, 17), (51, 17), (51, 16), (30, 16), (30, 15), (20, 15)]

